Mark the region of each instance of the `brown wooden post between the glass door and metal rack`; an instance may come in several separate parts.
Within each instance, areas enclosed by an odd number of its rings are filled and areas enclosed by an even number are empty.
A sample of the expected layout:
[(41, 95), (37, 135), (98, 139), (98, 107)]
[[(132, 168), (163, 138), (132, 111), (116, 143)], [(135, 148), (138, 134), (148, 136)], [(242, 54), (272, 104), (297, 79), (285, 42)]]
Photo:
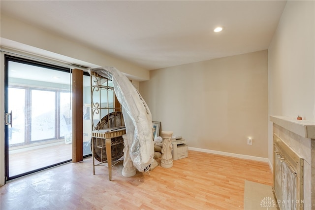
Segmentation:
[(72, 70), (72, 162), (83, 160), (83, 70)]

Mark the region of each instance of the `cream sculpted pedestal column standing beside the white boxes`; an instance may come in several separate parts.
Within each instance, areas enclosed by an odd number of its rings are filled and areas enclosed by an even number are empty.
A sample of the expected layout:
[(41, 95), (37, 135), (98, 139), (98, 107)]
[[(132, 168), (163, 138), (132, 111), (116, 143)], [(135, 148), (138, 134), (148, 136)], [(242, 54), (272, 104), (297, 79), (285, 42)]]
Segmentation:
[(162, 157), (161, 157), (161, 167), (171, 168), (173, 167), (173, 157), (172, 157), (172, 139), (173, 131), (162, 131), (161, 137), (162, 141)]

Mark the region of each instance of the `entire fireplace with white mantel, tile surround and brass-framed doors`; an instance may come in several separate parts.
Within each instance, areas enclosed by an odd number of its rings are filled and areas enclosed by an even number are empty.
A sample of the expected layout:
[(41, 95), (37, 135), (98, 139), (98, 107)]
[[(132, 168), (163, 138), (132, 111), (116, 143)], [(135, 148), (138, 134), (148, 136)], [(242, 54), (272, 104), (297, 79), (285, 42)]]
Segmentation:
[(270, 116), (273, 189), (280, 209), (315, 209), (315, 122)]

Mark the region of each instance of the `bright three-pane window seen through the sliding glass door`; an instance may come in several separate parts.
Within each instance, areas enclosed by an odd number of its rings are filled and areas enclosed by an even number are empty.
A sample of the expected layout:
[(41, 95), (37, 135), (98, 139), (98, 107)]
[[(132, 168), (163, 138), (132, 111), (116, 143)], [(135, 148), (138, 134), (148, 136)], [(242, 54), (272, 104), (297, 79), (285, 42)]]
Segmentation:
[(70, 101), (69, 91), (9, 86), (10, 146), (63, 140), (71, 133)]

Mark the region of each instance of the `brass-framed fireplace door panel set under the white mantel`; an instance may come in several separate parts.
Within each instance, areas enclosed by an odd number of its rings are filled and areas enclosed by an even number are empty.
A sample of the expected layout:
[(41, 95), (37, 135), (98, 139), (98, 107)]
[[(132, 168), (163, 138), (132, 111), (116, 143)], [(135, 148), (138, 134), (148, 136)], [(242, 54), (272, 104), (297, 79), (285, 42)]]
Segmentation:
[(303, 158), (274, 135), (273, 190), (281, 210), (303, 210)]

